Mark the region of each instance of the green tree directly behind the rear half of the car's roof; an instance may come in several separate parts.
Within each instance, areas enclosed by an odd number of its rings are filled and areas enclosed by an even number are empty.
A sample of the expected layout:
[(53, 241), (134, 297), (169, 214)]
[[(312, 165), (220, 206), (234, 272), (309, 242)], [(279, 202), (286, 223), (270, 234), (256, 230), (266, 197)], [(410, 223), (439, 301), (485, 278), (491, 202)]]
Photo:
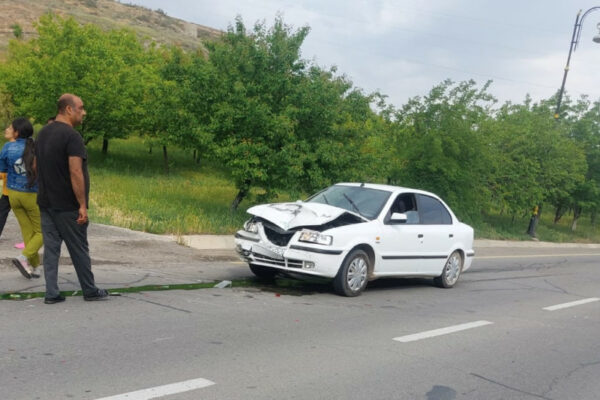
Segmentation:
[(398, 111), (392, 183), (430, 190), (471, 220), (490, 207), (492, 149), (482, 127), (495, 99), (488, 86), (446, 80)]

